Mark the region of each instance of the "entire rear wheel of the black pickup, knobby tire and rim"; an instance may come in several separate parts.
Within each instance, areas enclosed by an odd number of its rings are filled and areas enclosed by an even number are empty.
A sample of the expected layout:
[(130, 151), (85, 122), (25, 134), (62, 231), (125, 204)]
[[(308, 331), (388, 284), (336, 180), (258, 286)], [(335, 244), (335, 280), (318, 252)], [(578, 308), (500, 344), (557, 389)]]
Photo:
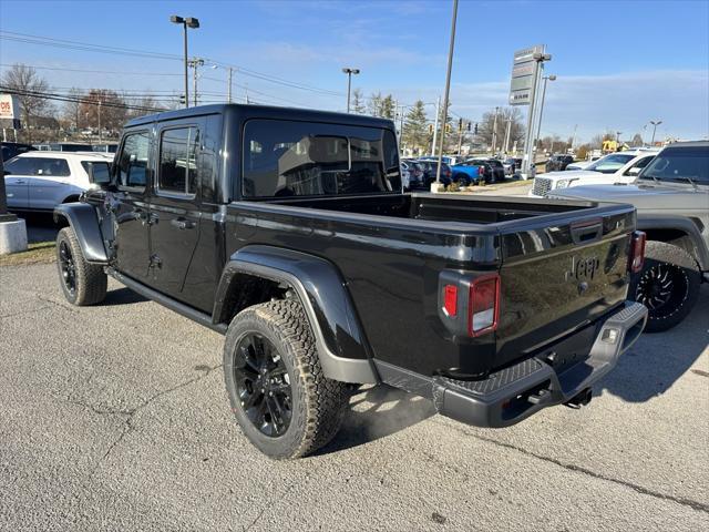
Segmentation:
[(224, 378), (242, 430), (270, 458), (309, 454), (340, 428), (347, 389), (322, 374), (299, 301), (255, 305), (232, 320)]

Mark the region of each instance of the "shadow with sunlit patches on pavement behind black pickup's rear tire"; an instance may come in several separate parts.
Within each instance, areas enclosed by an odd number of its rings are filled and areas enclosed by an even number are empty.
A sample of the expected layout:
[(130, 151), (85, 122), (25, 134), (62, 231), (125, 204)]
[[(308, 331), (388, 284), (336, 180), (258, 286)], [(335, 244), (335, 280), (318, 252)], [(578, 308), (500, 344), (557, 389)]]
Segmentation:
[(413, 393), (387, 385), (360, 388), (352, 395), (340, 431), (316, 454), (329, 454), (369, 443), (435, 413), (431, 401)]

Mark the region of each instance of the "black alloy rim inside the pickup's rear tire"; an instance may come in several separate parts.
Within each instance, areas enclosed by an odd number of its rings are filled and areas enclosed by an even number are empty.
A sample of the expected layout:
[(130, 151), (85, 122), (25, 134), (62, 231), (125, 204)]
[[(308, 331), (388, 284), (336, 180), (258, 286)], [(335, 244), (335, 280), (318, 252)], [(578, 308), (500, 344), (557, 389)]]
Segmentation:
[(286, 365), (270, 340), (256, 332), (242, 337), (234, 380), (249, 421), (265, 436), (284, 434), (292, 417), (292, 390)]

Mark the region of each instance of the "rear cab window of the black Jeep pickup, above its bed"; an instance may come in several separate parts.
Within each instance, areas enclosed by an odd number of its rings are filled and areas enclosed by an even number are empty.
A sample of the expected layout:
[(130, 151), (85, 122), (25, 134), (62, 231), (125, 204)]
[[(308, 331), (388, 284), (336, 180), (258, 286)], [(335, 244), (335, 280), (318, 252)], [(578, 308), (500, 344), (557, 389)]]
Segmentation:
[(250, 120), (244, 130), (245, 197), (400, 192), (390, 130)]

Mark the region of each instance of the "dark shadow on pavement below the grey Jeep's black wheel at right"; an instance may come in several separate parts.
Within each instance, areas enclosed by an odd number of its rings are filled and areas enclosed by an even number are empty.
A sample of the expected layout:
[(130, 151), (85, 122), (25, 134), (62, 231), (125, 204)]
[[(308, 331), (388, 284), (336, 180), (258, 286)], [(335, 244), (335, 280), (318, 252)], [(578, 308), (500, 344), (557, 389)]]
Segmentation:
[(701, 288), (697, 305), (681, 324), (665, 332), (644, 334), (620, 357), (602, 381), (603, 392), (645, 402), (665, 393), (689, 370), (709, 346), (709, 286)]

